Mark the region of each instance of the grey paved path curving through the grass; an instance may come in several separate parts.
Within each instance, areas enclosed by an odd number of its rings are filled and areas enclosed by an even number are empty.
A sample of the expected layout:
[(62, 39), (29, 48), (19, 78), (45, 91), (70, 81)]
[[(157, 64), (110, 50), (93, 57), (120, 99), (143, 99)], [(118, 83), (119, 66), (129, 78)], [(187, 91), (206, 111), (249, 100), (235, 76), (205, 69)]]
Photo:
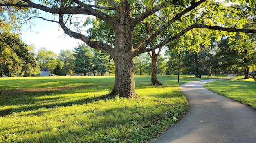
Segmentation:
[(216, 80), (180, 85), (189, 112), (151, 143), (256, 143), (256, 110), (203, 87)]

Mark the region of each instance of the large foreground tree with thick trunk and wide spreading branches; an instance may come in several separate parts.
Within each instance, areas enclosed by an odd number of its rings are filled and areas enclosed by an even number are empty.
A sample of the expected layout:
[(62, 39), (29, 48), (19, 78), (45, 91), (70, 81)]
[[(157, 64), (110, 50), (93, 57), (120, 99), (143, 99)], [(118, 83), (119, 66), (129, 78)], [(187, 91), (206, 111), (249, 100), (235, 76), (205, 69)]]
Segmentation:
[[(229, 2), (229, 0), (225, 0)], [(58, 16), (57, 22), (70, 37), (80, 39), (94, 49), (110, 54), (115, 62), (115, 84), (111, 95), (137, 97), (133, 75), (133, 58), (138, 54), (162, 48), (193, 28), (209, 28), (228, 32), (256, 32), (254, 29), (241, 29), (241, 23), (254, 20), (254, 2), (241, 4), (244, 0), (230, 0), (236, 4), (225, 7), (214, 0), (0, 0), (1, 10), (11, 15), (31, 8), (31, 18), (38, 17), (33, 9), (40, 9)], [(243, 5), (243, 8), (240, 8)], [(12, 13), (13, 11), (15, 13)], [(227, 19), (227, 13), (234, 17)], [(20, 13), (18, 13), (20, 16)], [(106, 22), (115, 34), (115, 45), (90, 39), (81, 27), (83, 17), (92, 15)], [(151, 19), (150, 16), (154, 18)], [(30, 16), (30, 15), (23, 15)], [(47, 19), (45, 19), (47, 20)], [(85, 20), (84, 20), (85, 21)], [(230, 21), (230, 25), (225, 25)], [(141, 25), (141, 39), (133, 42), (137, 35), (135, 27)], [(150, 26), (148, 28), (147, 26)], [(72, 30), (74, 29), (74, 30)], [(151, 29), (148, 31), (148, 29)], [(153, 30), (152, 30), (153, 29)], [(100, 32), (100, 31), (99, 31)]]

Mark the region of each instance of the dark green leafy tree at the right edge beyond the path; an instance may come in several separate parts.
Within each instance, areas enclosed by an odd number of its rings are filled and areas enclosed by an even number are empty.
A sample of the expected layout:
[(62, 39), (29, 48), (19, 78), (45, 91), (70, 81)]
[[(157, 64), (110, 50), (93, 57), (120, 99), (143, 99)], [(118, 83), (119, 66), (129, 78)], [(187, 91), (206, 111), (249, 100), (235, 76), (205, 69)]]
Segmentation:
[[(218, 57), (217, 68), (221, 68), (223, 72), (243, 70), (244, 78), (249, 78), (249, 67), (253, 67), (255, 63), (255, 35), (237, 34), (234, 37), (222, 37), (218, 45), (216, 57)], [(234, 41), (235, 40), (235, 41)], [(233, 42), (232, 42), (233, 41)]]

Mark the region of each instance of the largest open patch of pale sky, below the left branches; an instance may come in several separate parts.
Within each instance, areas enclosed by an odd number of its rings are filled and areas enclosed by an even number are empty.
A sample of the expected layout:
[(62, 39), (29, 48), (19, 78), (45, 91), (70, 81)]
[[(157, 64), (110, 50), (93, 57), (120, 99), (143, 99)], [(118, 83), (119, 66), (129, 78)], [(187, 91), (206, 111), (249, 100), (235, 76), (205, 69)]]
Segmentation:
[(82, 42), (65, 35), (57, 23), (42, 19), (33, 19), (31, 22), (35, 23), (35, 25), (30, 26), (29, 23), (22, 25), (22, 40), (27, 45), (34, 44), (35, 52), (45, 47), (47, 50), (58, 54), (62, 49), (74, 50), (74, 47), (77, 47), (78, 43)]

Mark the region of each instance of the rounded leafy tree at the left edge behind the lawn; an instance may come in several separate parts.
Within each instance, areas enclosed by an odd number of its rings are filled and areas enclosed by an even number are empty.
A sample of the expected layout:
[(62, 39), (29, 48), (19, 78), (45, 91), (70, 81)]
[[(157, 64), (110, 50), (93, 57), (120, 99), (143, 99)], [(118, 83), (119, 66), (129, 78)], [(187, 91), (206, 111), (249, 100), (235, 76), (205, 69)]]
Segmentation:
[[(33, 53), (17, 34), (0, 32), (0, 76), (20, 74), (22, 67), (36, 67)], [(25, 69), (23, 69), (24, 71)], [(24, 73), (23, 73), (24, 74)]]

